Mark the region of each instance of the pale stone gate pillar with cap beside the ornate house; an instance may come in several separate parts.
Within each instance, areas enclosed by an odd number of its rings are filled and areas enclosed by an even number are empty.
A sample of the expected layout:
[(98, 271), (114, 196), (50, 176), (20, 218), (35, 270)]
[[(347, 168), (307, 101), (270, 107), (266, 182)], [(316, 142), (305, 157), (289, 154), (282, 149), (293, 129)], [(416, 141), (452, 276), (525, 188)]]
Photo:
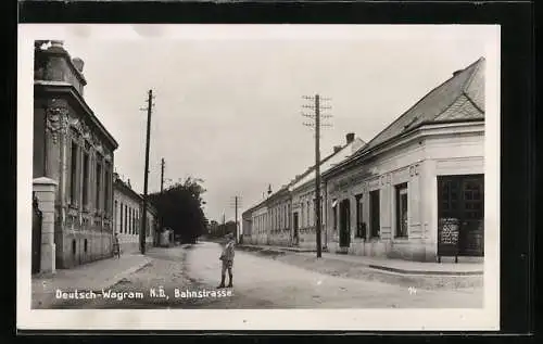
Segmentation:
[(33, 180), (33, 191), (38, 199), (38, 207), (41, 211), (41, 271), (54, 272), (55, 251), (54, 245), (54, 199), (56, 181), (47, 177)]

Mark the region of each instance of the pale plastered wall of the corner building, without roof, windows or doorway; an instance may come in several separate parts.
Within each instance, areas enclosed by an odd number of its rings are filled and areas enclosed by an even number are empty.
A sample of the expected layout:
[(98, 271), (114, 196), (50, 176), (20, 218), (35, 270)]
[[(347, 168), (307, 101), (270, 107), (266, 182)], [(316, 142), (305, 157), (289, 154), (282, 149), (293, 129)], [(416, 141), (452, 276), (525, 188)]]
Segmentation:
[[(351, 244), (348, 252), (357, 255), (389, 256), (406, 259), (433, 260), (438, 242), (439, 175), (483, 174), (483, 127), (469, 125), (469, 132), (449, 129), (440, 136), (418, 138), (377, 156), (362, 167), (336, 176), (327, 182), (327, 235), (331, 252), (340, 251), (340, 208), (342, 200), (350, 200)], [(463, 130), (459, 130), (462, 132)], [(371, 173), (355, 180), (356, 174)], [(342, 189), (336, 184), (344, 183)], [(395, 186), (406, 182), (408, 193), (407, 238), (394, 238), (396, 231)], [(380, 190), (380, 238), (359, 239), (356, 233), (355, 195), (363, 193), (363, 221), (370, 224), (369, 192)], [(338, 201), (338, 225), (333, 230), (331, 203)], [(367, 227), (369, 234), (370, 227)]]

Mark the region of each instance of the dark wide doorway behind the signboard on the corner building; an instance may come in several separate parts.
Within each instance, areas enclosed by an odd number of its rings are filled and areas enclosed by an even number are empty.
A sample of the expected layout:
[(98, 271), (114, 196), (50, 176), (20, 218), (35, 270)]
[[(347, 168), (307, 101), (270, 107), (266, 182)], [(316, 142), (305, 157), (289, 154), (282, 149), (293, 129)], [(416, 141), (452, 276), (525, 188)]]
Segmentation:
[(457, 255), (483, 256), (484, 175), (438, 176), (438, 255), (450, 255), (441, 238), (445, 225), (454, 221)]

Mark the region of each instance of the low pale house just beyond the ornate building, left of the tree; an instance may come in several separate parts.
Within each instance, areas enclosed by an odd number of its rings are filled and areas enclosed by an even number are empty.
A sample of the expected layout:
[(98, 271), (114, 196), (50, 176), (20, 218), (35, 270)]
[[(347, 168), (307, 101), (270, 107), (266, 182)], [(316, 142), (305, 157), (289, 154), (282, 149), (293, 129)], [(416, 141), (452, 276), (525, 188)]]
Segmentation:
[[(137, 193), (130, 186), (130, 180), (123, 181), (114, 174), (114, 216), (113, 228), (124, 253), (136, 253), (140, 251), (140, 230), (142, 224), (143, 196)], [(156, 208), (152, 203), (147, 204), (147, 246), (156, 245), (159, 224)]]

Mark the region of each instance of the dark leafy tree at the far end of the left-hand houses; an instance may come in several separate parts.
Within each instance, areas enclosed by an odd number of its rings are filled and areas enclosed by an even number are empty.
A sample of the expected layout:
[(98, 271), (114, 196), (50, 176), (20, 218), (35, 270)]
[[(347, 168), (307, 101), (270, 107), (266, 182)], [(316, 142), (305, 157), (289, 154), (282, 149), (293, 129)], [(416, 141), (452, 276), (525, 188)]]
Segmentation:
[(194, 243), (206, 232), (206, 218), (202, 209), (203, 180), (188, 177), (166, 188), (162, 193), (149, 195), (162, 219), (162, 228), (169, 227), (184, 243)]

